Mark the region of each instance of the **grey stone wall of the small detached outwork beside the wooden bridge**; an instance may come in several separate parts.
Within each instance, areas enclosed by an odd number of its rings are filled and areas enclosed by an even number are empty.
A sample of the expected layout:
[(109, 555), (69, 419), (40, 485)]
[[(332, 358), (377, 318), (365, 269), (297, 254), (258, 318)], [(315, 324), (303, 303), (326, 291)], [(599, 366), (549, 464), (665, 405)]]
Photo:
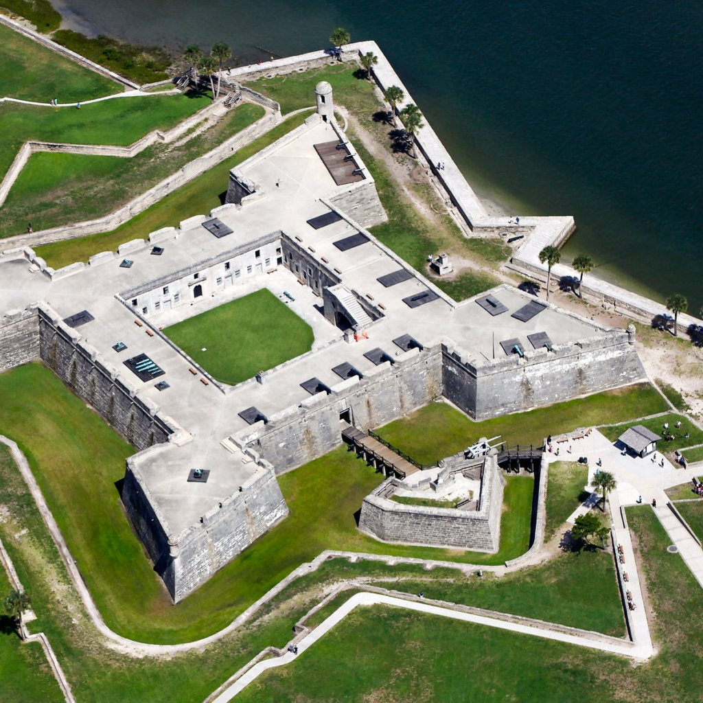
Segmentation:
[(404, 505), (382, 497), (387, 479), (363, 499), (359, 529), (385, 542), (498, 551), (503, 479), (495, 456), (486, 457), (479, 510)]

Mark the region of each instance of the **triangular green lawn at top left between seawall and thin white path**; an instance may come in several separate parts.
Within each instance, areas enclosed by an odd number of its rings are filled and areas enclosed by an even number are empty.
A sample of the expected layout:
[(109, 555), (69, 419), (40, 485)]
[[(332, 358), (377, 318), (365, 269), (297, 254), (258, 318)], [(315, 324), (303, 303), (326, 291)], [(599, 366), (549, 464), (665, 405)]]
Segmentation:
[(0, 97), (72, 103), (121, 91), (119, 83), (0, 25)]

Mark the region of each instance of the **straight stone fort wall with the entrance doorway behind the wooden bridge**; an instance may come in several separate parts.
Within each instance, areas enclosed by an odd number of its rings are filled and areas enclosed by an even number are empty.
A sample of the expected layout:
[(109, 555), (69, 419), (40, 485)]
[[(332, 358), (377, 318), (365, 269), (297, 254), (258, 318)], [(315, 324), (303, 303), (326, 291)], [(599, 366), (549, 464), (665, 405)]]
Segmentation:
[[(346, 342), (337, 342), (345, 344)], [(241, 432), (241, 443), (254, 449), (283, 472), (332, 451), (342, 442), (340, 413), (349, 411), (356, 427), (379, 427), (437, 400), (441, 395), (441, 348), (412, 349), (364, 375), (318, 393), (300, 406), (271, 415)]]

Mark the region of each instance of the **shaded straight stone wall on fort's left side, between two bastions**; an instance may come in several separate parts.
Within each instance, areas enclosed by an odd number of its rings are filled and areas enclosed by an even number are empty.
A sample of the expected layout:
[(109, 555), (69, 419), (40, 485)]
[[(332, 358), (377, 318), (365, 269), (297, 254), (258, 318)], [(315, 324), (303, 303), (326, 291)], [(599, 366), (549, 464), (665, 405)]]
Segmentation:
[(39, 354), (79, 397), (137, 449), (167, 441), (177, 427), (157, 414), (158, 408), (136, 396), (136, 388), (117, 378), (117, 370), (98, 358), (98, 352), (67, 327), (56, 314), (39, 306)]

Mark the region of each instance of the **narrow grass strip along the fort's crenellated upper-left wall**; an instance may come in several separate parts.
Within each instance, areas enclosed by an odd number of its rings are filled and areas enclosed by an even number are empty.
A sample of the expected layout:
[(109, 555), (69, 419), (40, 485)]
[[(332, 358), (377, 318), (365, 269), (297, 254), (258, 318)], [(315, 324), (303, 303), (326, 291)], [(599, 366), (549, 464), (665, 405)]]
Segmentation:
[(116, 229), (65, 242), (46, 244), (36, 248), (37, 255), (46, 259), (49, 266), (60, 269), (75, 262), (86, 262), (93, 254), (109, 250), (116, 251), (120, 244), (132, 239), (146, 238), (151, 232), (162, 227), (177, 227), (181, 220), (193, 215), (207, 214), (224, 202), (221, 198), (224, 198), (227, 190), (230, 169), (269, 146), (276, 139), (288, 134), (295, 127), (299, 127), (309, 114), (309, 112), (303, 112), (278, 124), (250, 145), (241, 148), (202, 176), (181, 186)]

